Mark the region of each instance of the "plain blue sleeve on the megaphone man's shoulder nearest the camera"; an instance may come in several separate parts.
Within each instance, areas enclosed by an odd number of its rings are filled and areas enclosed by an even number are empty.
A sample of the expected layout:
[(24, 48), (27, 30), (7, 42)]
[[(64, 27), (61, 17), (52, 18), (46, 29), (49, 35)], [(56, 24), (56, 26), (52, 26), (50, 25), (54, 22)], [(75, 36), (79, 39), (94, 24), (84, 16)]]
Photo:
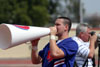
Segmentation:
[(70, 41), (62, 44), (60, 48), (63, 50), (65, 56), (67, 57), (67, 56), (76, 55), (78, 50), (78, 45), (76, 42)]

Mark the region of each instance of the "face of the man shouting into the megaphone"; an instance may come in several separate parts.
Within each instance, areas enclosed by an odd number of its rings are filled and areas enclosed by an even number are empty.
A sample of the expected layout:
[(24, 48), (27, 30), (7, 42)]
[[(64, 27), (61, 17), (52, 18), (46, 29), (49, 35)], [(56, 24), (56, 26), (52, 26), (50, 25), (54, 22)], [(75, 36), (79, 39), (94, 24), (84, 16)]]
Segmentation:
[(57, 19), (55, 21), (55, 26), (57, 28), (57, 36), (61, 35), (65, 31), (65, 25), (63, 24), (63, 19)]

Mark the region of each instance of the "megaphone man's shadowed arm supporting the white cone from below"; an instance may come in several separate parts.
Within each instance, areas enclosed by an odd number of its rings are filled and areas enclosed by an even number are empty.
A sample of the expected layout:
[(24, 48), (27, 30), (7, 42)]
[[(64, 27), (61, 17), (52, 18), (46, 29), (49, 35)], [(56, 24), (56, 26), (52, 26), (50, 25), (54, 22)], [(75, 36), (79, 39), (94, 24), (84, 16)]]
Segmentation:
[(38, 51), (37, 51), (38, 40), (39, 39), (31, 41), (31, 43), (32, 43), (31, 58), (32, 58), (32, 63), (33, 64), (39, 64), (42, 61), (42, 58), (38, 55)]

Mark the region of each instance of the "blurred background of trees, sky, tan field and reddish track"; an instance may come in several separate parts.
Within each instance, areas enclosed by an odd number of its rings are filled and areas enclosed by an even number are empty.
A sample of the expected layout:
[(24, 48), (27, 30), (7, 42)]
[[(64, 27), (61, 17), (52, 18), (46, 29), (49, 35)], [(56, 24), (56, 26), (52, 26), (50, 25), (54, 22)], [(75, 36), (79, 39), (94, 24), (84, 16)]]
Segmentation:
[[(100, 0), (0, 0), (0, 24), (18, 24), (49, 27), (59, 16), (71, 18), (72, 30), (79, 23), (88, 23), (92, 30), (100, 32)], [(41, 50), (49, 37), (41, 38), (38, 49)], [(2, 50), (0, 49), (0, 67), (41, 67), (31, 63), (30, 42)], [(96, 49), (96, 64), (98, 48)]]

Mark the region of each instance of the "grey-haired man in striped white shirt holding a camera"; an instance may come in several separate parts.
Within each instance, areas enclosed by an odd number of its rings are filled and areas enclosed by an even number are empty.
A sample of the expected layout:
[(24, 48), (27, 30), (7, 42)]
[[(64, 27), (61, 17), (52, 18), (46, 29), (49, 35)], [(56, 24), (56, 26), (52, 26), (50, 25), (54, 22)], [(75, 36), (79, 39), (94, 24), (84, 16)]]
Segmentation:
[[(79, 24), (76, 28), (76, 37), (73, 37), (73, 39), (78, 43), (79, 47), (75, 58), (78, 67), (93, 67), (92, 58), (97, 36), (95, 34), (91, 36), (90, 32), (87, 24)], [(87, 58), (89, 59), (87, 60)], [(86, 65), (86, 62), (88, 62), (88, 65)]]

